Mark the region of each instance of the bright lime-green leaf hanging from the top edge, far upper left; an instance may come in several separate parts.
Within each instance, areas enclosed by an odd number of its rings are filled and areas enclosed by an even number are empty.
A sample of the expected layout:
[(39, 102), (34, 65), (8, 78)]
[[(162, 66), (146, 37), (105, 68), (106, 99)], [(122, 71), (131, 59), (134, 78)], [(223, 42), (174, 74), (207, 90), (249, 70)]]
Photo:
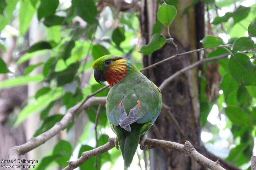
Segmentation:
[(35, 12), (36, 12), (36, 9), (31, 4), (30, 0), (20, 1), (20, 9), (19, 9), (20, 36), (23, 36), (27, 32), (30, 21), (34, 16)]

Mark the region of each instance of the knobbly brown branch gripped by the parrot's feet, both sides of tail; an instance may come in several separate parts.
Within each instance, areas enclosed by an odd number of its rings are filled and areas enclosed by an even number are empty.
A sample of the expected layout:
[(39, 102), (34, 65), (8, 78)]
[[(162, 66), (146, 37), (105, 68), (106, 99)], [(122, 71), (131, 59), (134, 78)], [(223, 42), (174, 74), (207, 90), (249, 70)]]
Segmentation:
[[(63, 170), (73, 170), (76, 167), (82, 165), (85, 161), (87, 161), (91, 157), (99, 155), (103, 152), (107, 152), (108, 150), (115, 147), (114, 141), (115, 141), (115, 138), (109, 138), (107, 144), (104, 144), (91, 151), (83, 152), (81, 157), (78, 158), (77, 160), (68, 161), (68, 166), (66, 166)], [(162, 147), (162, 148), (179, 151), (187, 154), (189, 157), (195, 159), (198, 163), (204, 166), (207, 166), (212, 170), (225, 170), (223, 167), (220, 166), (219, 160), (216, 160), (216, 162), (214, 162), (204, 157), (199, 152), (197, 152), (194, 146), (188, 141), (186, 141), (185, 144), (183, 145), (176, 142), (170, 142), (170, 141), (164, 141), (164, 140), (158, 140), (158, 139), (146, 139), (145, 145), (148, 145), (150, 148)]]

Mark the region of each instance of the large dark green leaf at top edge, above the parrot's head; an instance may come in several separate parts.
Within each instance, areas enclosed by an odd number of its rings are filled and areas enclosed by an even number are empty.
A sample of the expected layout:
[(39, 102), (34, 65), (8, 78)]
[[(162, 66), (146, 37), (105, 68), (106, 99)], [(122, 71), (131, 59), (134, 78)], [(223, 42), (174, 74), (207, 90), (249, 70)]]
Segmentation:
[(72, 0), (72, 5), (74, 5), (76, 15), (83, 18), (87, 23), (98, 22), (98, 11), (93, 0)]

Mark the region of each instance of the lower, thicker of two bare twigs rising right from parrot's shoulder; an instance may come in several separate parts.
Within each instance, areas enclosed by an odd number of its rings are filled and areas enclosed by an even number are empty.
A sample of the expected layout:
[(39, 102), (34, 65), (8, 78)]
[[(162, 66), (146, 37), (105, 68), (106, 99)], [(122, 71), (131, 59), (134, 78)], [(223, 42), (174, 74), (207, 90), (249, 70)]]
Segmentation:
[(202, 63), (205, 63), (205, 62), (209, 62), (209, 61), (213, 61), (213, 60), (219, 60), (221, 58), (224, 58), (224, 57), (227, 57), (228, 54), (223, 54), (223, 55), (219, 55), (219, 56), (216, 56), (216, 57), (211, 57), (211, 58), (205, 58), (205, 59), (202, 59), (202, 60), (199, 60), (197, 61), (196, 63), (193, 63), (191, 65), (189, 65), (188, 67), (185, 67), (179, 71), (177, 71), (176, 73), (174, 73), (172, 76), (170, 76), (169, 78), (166, 78), (163, 83), (159, 86), (159, 89), (161, 91), (164, 90), (164, 87), (166, 85), (168, 85), (168, 83), (170, 83), (174, 78), (176, 78), (177, 76), (179, 76), (180, 74), (184, 73), (185, 71), (187, 70), (190, 70), (190, 69), (193, 69), (195, 68), (196, 66), (202, 64)]

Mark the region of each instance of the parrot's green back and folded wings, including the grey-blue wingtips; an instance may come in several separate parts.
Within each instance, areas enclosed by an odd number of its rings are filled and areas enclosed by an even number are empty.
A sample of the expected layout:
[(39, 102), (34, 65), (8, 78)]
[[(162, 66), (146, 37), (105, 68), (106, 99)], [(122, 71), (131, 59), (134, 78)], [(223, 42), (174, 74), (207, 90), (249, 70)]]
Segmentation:
[(162, 94), (153, 82), (142, 74), (132, 80), (113, 86), (106, 102), (108, 121), (127, 131), (134, 122), (155, 122), (162, 107)]

